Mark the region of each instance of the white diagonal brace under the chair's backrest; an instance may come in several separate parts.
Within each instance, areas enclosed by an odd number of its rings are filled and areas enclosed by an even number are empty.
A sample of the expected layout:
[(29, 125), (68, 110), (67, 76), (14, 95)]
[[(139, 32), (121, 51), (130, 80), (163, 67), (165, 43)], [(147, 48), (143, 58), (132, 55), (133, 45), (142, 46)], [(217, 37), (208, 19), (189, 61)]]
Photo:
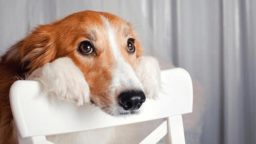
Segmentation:
[(168, 124), (165, 120), (156, 129), (154, 129), (140, 144), (156, 144), (168, 133)]

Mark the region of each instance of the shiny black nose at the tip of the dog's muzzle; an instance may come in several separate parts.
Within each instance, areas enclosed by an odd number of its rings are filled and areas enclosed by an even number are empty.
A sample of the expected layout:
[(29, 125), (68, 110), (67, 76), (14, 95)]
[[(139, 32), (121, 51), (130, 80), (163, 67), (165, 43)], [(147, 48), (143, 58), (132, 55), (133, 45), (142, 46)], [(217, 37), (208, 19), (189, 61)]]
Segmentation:
[(119, 94), (119, 104), (124, 110), (136, 110), (139, 109), (142, 103), (146, 100), (146, 96), (143, 91), (124, 91)]

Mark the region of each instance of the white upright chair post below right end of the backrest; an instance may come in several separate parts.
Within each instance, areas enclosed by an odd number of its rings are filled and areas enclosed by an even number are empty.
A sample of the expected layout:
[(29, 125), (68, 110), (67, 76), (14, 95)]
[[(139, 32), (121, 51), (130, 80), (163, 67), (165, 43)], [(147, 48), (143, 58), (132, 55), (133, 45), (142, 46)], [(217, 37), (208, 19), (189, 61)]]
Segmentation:
[(175, 115), (167, 118), (168, 134), (166, 135), (166, 144), (185, 144), (184, 128), (181, 115)]

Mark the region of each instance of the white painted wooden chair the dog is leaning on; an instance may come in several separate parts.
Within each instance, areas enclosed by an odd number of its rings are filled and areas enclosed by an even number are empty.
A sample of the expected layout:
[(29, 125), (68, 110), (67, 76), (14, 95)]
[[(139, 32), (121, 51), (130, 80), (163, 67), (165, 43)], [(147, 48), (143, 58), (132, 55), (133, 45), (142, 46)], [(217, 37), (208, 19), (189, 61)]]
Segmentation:
[[(166, 134), (166, 143), (184, 144), (182, 114), (192, 112), (190, 75), (182, 68), (162, 70), (159, 98), (146, 99), (140, 114), (113, 117), (97, 107), (60, 101), (52, 105), (37, 81), (19, 80), (10, 89), (10, 103), (20, 144), (52, 144), (47, 135), (118, 126), (164, 119), (140, 144), (157, 143)], [(102, 120), (104, 119), (104, 123)], [(65, 127), (64, 127), (64, 126)]]

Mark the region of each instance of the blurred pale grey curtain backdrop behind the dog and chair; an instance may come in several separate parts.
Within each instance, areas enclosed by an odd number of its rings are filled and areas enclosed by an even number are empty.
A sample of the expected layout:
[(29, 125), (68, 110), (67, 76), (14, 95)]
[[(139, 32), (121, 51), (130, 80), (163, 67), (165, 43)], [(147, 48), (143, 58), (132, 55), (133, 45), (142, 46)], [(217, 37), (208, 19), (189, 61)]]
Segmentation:
[(0, 54), (33, 27), (83, 10), (124, 18), (162, 68), (190, 73), (188, 144), (256, 143), (256, 0), (0, 0)]

